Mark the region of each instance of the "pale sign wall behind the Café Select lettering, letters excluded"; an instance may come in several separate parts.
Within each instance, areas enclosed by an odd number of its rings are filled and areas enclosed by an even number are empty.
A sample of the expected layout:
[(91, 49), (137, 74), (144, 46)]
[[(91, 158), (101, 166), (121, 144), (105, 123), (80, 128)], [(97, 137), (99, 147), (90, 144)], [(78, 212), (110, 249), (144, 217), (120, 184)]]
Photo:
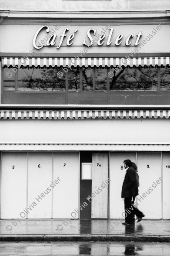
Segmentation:
[[(27, 22), (27, 24), (25, 24)], [(70, 24), (70, 22), (72, 24)], [(87, 57), (89, 54), (93, 54), (94, 56), (97, 56), (97, 54), (100, 51), (100, 54), (121, 54), (122, 57), (125, 57), (126, 55), (133, 54), (132, 57), (136, 57), (136, 53), (138, 55), (141, 55), (143, 53), (148, 53), (148, 57), (150, 57), (150, 54), (152, 53), (159, 53), (161, 57), (161, 53), (166, 53), (170, 51), (170, 46), (167, 42), (170, 41), (170, 19), (155, 19), (151, 22), (151, 20), (144, 20), (141, 24), (139, 24), (138, 18), (134, 19), (133, 21), (130, 21), (129, 23), (120, 20), (117, 24), (117, 20), (107, 20), (106, 17), (102, 21), (102, 25), (98, 25), (100, 21), (98, 18), (94, 22), (91, 18), (88, 20), (80, 20), (79, 24), (77, 24), (77, 20), (73, 18), (65, 20), (59, 19), (53, 19), (50, 22), (41, 22), (39, 20), (35, 20), (35, 24), (31, 24), (29, 21), (22, 19), (18, 20), (16, 24), (16, 21), (6, 21), (6, 19), (3, 20), (2, 25), (0, 26), (0, 33), (3, 34), (3, 37), (0, 38), (0, 51), (3, 53), (23, 53), (20, 57), (28, 57), (30, 58), (30, 54), (32, 54), (32, 57), (35, 57), (37, 54), (69, 54), (74, 57), (76, 56), (80, 57)], [(22, 24), (23, 23), (23, 24)], [(152, 24), (150, 24), (152, 23)], [(22, 24), (22, 25), (21, 25)], [(130, 25), (131, 24), (131, 25)], [(159, 27), (160, 24), (160, 27)], [(47, 27), (43, 28), (42, 31), (37, 36), (37, 47), (40, 48), (39, 45), (44, 44), (44, 46), (41, 49), (33, 49), (33, 37), (34, 34), (37, 32), (37, 30), (42, 27), (48, 25), (50, 28), (50, 31), (53, 32), (53, 34), (57, 34), (56, 38), (56, 44), (54, 46), (47, 47), (46, 41), (48, 38), (47, 34), (51, 35), (50, 33), (46, 32)], [(55, 27), (57, 28), (55, 29)], [(60, 34), (62, 34), (63, 30), (65, 28), (69, 28), (69, 31), (66, 32), (67, 37), (64, 38), (63, 43), (59, 49), (56, 48), (56, 46), (59, 45), (60, 42)], [(107, 27), (107, 29), (106, 29)], [(107, 46), (107, 39), (109, 37), (110, 30), (109, 28), (113, 27), (113, 34), (112, 34), (112, 43)], [(158, 27), (158, 30), (157, 30)], [(75, 29), (78, 28), (78, 31), (75, 34), (75, 38), (73, 39), (73, 44), (70, 46), (67, 46), (66, 41), (68, 36), (75, 31)], [(90, 40), (87, 37), (87, 31), (90, 29), (97, 29), (96, 35), (91, 32), (94, 44), (93, 47), (87, 47), (83, 45), (83, 40), (86, 39), (86, 43), (90, 44)], [(53, 29), (53, 30), (52, 30)], [(155, 31), (154, 31), (155, 29)], [(97, 35), (100, 34), (103, 31), (106, 34), (106, 37), (104, 38), (103, 45), (98, 46), (97, 45)], [(7, 33), (8, 31), (8, 33)], [(145, 40), (145, 43), (135, 46), (135, 42), (137, 40), (137, 34), (142, 31), (142, 37), (140, 38), (140, 42), (142, 43), (143, 40)], [(152, 34), (152, 32), (154, 34)], [(122, 43), (119, 46), (115, 45), (115, 40), (117, 36), (122, 33)], [(129, 46), (125, 45), (125, 41), (127, 37), (130, 34), (134, 34), (134, 37), (131, 38), (130, 41), (132, 41), (132, 44)], [(149, 37), (149, 35), (151, 35)], [(146, 39), (147, 38), (147, 39)], [(42, 40), (42, 42), (41, 42)], [(79, 55), (78, 55), (79, 54)], [(124, 54), (124, 56), (123, 56)], [(81, 56), (82, 55), (82, 56)], [(146, 56), (146, 55), (145, 55)], [(131, 55), (130, 55), (131, 57)]]

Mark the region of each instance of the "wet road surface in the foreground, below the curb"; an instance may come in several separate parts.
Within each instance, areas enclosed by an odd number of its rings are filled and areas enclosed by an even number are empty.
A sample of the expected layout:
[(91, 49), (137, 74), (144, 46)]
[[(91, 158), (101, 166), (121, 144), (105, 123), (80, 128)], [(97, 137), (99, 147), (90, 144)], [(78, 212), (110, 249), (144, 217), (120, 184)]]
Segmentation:
[(0, 243), (1, 256), (38, 255), (143, 255), (170, 256), (170, 243), (154, 242), (49, 242)]

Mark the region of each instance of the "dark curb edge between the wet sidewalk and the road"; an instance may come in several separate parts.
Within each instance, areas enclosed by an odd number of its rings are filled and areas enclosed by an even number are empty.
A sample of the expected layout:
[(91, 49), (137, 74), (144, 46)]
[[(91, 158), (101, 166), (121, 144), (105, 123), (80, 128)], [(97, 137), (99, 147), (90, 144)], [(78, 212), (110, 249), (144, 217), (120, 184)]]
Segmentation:
[(54, 241), (124, 241), (170, 242), (170, 236), (123, 236), (123, 235), (1, 235), (0, 242), (54, 242)]

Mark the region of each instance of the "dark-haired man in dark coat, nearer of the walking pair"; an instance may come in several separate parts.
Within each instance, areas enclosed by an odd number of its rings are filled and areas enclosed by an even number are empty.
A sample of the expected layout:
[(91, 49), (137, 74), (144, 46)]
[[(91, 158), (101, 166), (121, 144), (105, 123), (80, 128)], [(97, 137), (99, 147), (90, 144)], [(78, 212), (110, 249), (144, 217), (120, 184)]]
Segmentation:
[(127, 171), (124, 177), (123, 186), (122, 186), (122, 195), (121, 195), (121, 197), (124, 198), (124, 209), (126, 214), (125, 222), (122, 224), (130, 225), (130, 224), (134, 224), (134, 214), (137, 215), (138, 222), (142, 220), (144, 215), (134, 205), (135, 197), (139, 195), (138, 194), (139, 179), (137, 182), (136, 171), (133, 167), (134, 165), (132, 166), (132, 162), (129, 159), (124, 160), (123, 164), (124, 164), (124, 168), (127, 169)]

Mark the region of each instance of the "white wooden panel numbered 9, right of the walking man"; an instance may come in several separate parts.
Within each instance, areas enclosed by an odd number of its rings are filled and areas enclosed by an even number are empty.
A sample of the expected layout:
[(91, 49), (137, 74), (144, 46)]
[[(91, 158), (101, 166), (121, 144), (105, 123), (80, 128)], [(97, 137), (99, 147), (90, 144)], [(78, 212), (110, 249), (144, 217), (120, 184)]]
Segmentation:
[(139, 174), (138, 208), (145, 218), (162, 218), (161, 207), (161, 154), (138, 153), (137, 167)]

